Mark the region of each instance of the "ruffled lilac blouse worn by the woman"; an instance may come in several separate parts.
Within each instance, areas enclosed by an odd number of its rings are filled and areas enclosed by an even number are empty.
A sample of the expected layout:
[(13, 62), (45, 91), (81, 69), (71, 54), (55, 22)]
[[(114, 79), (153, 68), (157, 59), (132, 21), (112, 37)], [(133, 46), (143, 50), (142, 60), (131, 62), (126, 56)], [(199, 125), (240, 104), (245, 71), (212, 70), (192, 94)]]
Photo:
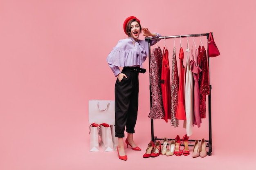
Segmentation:
[[(159, 33), (153, 38), (161, 37)], [(135, 42), (135, 45), (132, 43)], [(150, 46), (157, 43), (157, 40), (151, 40)], [(145, 40), (133, 40), (132, 37), (119, 40), (107, 57), (108, 65), (117, 76), (121, 71), (119, 67), (140, 66), (148, 57), (148, 42)]]

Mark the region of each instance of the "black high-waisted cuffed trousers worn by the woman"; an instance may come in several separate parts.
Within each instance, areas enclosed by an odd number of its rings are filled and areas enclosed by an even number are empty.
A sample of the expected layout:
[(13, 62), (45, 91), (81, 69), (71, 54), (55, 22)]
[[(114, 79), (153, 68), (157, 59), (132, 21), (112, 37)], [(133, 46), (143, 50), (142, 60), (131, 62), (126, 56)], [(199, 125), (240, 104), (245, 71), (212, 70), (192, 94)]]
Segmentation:
[(118, 78), (115, 84), (115, 132), (116, 137), (124, 137), (126, 132), (134, 133), (135, 124), (138, 115), (138, 97), (139, 97), (139, 73), (122, 70), (127, 78), (119, 82)]

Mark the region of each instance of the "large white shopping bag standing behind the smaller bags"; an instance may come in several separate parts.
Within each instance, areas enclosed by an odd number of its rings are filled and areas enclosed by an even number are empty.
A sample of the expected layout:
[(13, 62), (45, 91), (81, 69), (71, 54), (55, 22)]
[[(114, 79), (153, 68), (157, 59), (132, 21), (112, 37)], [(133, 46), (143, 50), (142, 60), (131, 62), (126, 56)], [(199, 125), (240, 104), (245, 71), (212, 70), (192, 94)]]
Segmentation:
[(90, 100), (89, 101), (89, 124), (106, 123), (115, 124), (115, 101), (114, 100)]

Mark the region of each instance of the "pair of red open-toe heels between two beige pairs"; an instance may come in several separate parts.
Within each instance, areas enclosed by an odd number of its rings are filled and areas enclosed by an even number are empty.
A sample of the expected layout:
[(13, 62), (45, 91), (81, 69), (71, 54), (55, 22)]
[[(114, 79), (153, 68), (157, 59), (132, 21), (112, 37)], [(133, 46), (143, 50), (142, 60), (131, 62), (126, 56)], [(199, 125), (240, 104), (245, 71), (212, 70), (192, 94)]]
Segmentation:
[(180, 156), (180, 155), (184, 155), (187, 156), (189, 155), (189, 137), (187, 135), (184, 135), (182, 138), (182, 142), (184, 144), (184, 149), (181, 151), (180, 150), (180, 136), (177, 135), (175, 137), (175, 150), (174, 150), (174, 155), (176, 156)]

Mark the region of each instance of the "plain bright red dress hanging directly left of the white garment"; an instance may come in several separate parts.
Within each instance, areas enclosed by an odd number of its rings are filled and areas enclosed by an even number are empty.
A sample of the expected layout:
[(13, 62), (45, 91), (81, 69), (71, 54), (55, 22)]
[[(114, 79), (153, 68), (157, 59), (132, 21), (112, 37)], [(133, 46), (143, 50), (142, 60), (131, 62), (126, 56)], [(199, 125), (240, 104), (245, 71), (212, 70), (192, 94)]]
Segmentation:
[(176, 118), (180, 120), (186, 120), (186, 113), (184, 107), (184, 71), (185, 67), (183, 66), (183, 58), (184, 52), (182, 47), (180, 47), (180, 84), (179, 84), (179, 96), (178, 96), (178, 106), (177, 106), (177, 113)]

